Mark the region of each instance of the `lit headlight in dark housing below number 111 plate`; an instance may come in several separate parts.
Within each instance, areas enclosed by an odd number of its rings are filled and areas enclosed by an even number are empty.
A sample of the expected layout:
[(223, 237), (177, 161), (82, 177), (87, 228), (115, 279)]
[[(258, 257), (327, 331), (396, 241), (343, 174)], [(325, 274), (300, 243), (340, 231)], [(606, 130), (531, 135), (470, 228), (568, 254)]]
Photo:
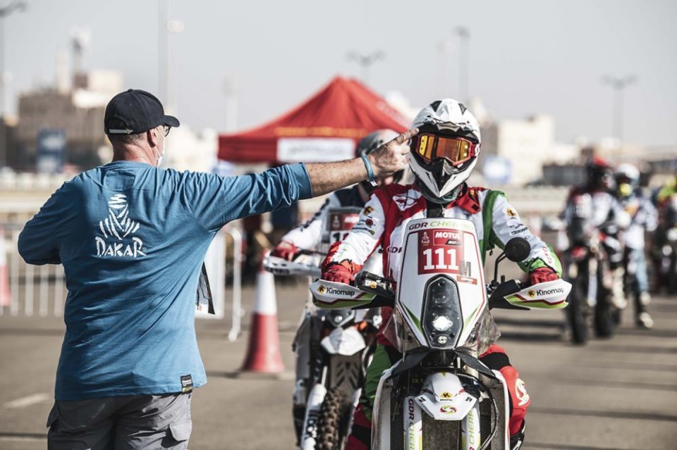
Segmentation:
[(449, 348), (463, 329), (456, 282), (445, 275), (432, 278), (425, 288), (423, 332), (430, 346)]

